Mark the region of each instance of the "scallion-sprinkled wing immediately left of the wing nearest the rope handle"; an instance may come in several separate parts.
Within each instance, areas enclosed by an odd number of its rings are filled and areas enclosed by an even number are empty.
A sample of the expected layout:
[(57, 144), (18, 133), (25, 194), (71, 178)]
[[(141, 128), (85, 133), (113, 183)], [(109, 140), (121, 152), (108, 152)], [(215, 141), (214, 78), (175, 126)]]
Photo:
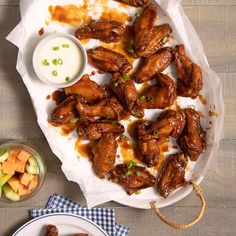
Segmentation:
[(145, 167), (132, 166), (128, 168), (126, 164), (117, 165), (110, 171), (110, 179), (124, 187), (128, 195), (134, 192), (149, 188), (155, 185), (155, 177), (151, 175)]

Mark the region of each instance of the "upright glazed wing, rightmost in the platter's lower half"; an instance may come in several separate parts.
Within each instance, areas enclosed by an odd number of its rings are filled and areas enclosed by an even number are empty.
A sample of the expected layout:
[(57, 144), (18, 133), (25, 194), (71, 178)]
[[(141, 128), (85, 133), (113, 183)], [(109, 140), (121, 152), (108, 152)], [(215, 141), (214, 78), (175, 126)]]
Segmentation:
[(200, 115), (194, 109), (185, 109), (186, 127), (178, 144), (191, 161), (196, 161), (206, 149), (205, 131), (201, 127)]

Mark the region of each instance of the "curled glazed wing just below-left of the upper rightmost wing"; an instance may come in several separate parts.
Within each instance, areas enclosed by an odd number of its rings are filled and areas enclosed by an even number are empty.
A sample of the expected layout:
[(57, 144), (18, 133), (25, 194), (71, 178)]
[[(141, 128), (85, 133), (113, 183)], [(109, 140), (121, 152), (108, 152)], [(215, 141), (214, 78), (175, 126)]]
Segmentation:
[(157, 74), (157, 83), (151, 85), (140, 100), (143, 108), (164, 109), (174, 104), (177, 99), (176, 83), (168, 75)]

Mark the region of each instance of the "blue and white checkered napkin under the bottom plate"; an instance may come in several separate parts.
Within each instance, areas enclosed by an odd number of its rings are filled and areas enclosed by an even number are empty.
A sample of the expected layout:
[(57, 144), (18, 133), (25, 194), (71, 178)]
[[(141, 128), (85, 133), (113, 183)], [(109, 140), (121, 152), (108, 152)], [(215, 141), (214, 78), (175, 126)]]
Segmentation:
[(126, 236), (129, 232), (129, 228), (115, 223), (114, 209), (81, 207), (59, 194), (49, 198), (46, 208), (31, 210), (33, 218), (49, 213), (72, 213), (83, 216), (103, 228), (109, 236)]

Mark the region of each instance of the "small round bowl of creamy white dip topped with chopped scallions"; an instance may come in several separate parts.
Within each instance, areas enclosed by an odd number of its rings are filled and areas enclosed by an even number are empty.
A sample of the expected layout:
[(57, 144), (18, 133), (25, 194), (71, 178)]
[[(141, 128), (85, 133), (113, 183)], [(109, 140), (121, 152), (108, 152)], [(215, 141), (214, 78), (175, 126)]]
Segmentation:
[(45, 37), (35, 48), (34, 70), (44, 83), (67, 87), (76, 83), (86, 67), (86, 52), (79, 40), (67, 34)]

